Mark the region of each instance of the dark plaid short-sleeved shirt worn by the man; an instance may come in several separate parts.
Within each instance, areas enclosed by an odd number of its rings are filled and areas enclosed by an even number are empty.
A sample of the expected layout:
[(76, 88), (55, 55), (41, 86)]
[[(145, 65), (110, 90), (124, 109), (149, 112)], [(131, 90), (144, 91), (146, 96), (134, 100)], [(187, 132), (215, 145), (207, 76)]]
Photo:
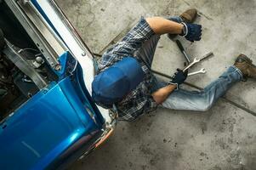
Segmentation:
[[(145, 19), (141, 18), (139, 23), (122, 38), (121, 42), (117, 42), (116, 45), (109, 48), (103, 54), (99, 60), (99, 71), (105, 71), (105, 69), (122, 60), (124, 57), (134, 56), (142, 44), (154, 34), (154, 31), (152, 31)], [(143, 113), (148, 113), (156, 109), (156, 102), (151, 96), (152, 73), (138, 56), (135, 55), (134, 58), (139, 61), (142, 70), (145, 72), (145, 79), (116, 105), (119, 118), (125, 121), (133, 121)]]

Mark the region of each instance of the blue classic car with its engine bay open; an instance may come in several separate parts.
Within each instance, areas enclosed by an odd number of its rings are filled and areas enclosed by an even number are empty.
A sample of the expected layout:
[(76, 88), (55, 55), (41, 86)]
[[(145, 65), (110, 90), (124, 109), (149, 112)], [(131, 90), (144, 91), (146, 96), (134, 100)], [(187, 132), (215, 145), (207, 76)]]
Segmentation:
[(95, 59), (53, 0), (0, 0), (0, 169), (63, 169), (112, 133)]

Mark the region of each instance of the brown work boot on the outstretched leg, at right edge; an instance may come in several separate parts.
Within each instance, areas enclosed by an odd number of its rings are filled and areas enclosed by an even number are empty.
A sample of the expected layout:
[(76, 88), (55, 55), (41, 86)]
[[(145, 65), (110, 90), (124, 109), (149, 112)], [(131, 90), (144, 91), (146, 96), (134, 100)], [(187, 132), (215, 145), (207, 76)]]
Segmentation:
[(242, 72), (245, 79), (247, 77), (256, 79), (256, 65), (253, 65), (252, 59), (246, 55), (239, 54), (234, 65)]

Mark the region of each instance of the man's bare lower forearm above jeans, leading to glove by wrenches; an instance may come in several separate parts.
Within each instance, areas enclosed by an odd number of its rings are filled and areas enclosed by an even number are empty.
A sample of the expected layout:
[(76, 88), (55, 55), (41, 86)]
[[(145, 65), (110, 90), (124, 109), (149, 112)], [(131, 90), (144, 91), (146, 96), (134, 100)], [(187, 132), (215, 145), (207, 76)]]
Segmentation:
[(171, 94), (176, 88), (177, 88), (176, 84), (168, 84), (168, 86), (156, 90), (156, 92), (151, 94), (151, 96), (156, 101), (156, 104), (159, 105), (159, 104), (162, 104), (162, 102), (165, 99), (167, 99), (169, 94)]

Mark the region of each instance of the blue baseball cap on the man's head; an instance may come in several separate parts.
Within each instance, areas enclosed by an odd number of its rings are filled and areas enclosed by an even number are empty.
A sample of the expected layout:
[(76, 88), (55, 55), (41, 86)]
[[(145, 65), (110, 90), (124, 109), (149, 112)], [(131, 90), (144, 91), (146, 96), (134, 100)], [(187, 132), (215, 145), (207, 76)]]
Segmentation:
[(126, 57), (94, 77), (92, 97), (98, 105), (111, 107), (134, 90), (144, 77), (137, 59)]

